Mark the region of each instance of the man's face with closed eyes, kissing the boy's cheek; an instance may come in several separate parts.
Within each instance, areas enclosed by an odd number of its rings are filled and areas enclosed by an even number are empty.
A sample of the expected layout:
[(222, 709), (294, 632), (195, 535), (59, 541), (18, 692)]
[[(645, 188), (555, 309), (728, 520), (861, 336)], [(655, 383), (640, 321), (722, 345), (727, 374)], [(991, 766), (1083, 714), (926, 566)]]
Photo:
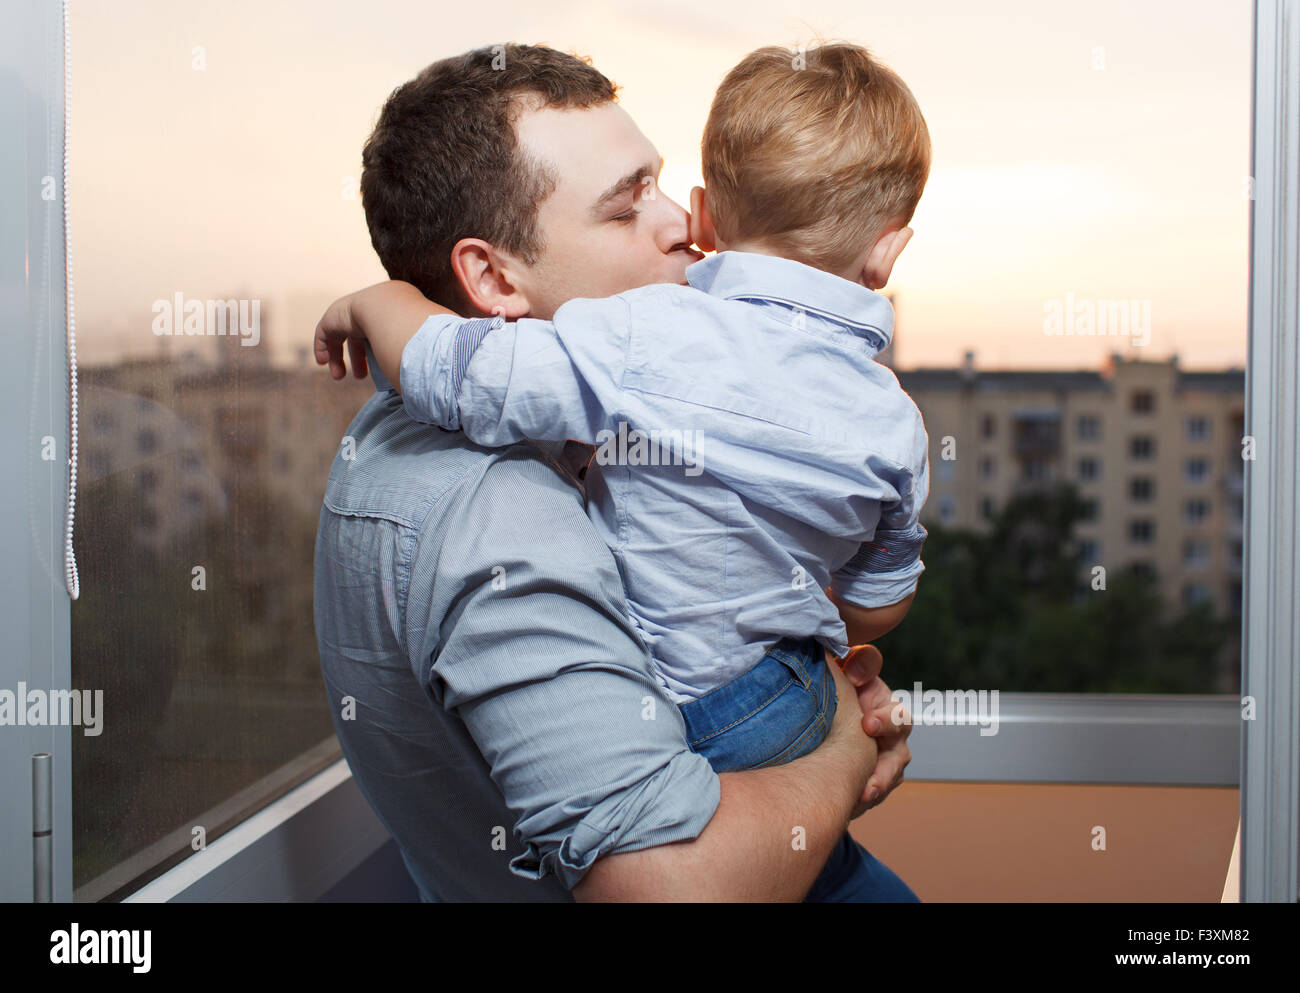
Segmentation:
[(685, 282), (703, 256), (686, 212), (659, 190), (663, 160), (621, 107), (528, 109), (515, 127), (520, 151), (558, 179), (538, 207), (542, 255), (517, 276), (530, 317), (577, 296)]

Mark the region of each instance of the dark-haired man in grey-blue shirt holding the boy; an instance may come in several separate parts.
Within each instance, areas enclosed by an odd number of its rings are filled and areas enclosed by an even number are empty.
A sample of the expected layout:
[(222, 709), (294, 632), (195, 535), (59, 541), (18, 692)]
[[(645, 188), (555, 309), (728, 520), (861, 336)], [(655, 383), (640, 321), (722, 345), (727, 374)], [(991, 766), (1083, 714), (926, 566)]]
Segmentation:
[[(361, 177), (389, 274), (507, 318), (684, 282), (686, 216), (614, 96), (525, 45), (394, 91)], [(341, 351), (317, 360), (346, 374)], [(844, 836), (909, 760), (884, 684), (836, 669), (818, 750), (715, 775), (582, 512), (582, 458), (478, 448), (376, 385), (325, 493), (316, 630), (343, 753), (424, 899), (914, 899)]]

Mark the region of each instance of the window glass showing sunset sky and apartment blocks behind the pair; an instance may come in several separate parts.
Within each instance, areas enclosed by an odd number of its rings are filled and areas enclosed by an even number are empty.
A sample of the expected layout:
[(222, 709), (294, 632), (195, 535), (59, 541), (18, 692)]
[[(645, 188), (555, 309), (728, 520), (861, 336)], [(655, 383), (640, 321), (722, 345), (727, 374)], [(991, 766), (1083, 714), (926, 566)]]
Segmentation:
[(311, 329), (384, 277), (358, 198), (384, 97), (503, 38), (592, 56), (679, 203), (746, 52), (822, 32), (894, 68), (935, 165), (880, 356), (933, 469), (892, 682), (1234, 691), (1251, 4), (1171, 9), (512, 1), (486, 38), (398, 0), (74, 4), (73, 685), (107, 697), (103, 734), (74, 736), (79, 896), (337, 754), (312, 545), (369, 385), (330, 382)]

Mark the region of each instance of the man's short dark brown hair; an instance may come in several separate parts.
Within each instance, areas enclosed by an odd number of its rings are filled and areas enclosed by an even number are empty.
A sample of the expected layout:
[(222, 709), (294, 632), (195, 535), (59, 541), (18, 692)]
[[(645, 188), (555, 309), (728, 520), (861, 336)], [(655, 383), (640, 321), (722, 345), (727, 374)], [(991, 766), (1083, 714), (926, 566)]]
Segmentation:
[(521, 44), (443, 58), (394, 90), (361, 152), (365, 222), (389, 277), (455, 307), (464, 299), (450, 255), (462, 238), (536, 263), (537, 208), (556, 177), (521, 155), (520, 97), (585, 108), (616, 91), (576, 56)]

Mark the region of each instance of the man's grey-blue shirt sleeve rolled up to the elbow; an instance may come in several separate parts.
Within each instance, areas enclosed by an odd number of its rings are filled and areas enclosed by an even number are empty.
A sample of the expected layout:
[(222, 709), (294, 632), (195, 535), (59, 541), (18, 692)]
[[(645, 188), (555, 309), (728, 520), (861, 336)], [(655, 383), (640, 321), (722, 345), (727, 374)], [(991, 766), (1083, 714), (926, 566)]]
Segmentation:
[(718, 776), (688, 749), (577, 491), (508, 452), (458, 502), (413, 550), (406, 637), (516, 815), (511, 870), (572, 888), (603, 855), (698, 836)]

